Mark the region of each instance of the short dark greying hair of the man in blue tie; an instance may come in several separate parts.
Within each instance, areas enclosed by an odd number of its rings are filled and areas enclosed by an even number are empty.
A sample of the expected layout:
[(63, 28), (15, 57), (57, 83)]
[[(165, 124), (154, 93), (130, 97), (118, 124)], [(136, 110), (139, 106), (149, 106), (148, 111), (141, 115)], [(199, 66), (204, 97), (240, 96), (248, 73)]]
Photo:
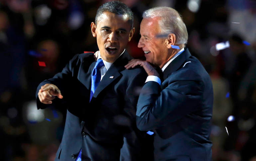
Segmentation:
[(95, 16), (95, 24), (99, 21), (99, 17), (104, 12), (111, 12), (116, 15), (127, 15), (129, 18), (129, 22), (131, 24), (131, 28), (133, 27), (133, 13), (131, 9), (124, 3), (120, 1), (110, 1), (104, 3), (102, 6), (99, 7), (97, 14)]

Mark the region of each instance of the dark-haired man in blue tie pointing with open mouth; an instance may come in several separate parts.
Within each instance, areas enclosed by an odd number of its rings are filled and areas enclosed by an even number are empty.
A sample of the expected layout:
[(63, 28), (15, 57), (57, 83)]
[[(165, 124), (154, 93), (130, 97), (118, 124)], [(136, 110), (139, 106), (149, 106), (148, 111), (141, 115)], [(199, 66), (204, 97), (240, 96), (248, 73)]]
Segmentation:
[(38, 108), (67, 108), (56, 161), (152, 160), (153, 137), (137, 129), (135, 118), (134, 90), (147, 74), (143, 68), (124, 68), (130, 60), (125, 47), (134, 33), (133, 14), (119, 1), (107, 2), (91, 31), (100, 51), (97, 61), (93, 53), (77, 54), (37, 89)]

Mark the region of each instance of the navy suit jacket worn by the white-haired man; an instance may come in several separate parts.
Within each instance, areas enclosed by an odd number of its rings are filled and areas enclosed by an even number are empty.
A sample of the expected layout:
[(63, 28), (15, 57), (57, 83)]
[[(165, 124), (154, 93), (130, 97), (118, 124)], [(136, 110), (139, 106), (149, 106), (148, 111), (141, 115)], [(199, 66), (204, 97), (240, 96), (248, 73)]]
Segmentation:
[[(148, 81), (137, 104), (137, 127), (153, 130), (155, 160), (210, 161), (213, 89), (208, 73), (188, 49)], [(143, 92), (147, 91), (147, 92)]]

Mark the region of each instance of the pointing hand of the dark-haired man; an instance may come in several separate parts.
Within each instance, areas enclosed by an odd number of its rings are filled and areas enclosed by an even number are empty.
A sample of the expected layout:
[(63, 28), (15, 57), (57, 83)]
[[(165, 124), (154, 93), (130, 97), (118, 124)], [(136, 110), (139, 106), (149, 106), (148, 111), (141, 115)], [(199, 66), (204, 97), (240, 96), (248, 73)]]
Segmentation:
[(38, 98), (40, 102), (44, 104), (52, 104), (52, 100), (55, 96), (58, 96), (60, 99), (63, 98), (60, 89), (54, 84), (47, 83), (41, 86), (41, 89), (38, 92)]

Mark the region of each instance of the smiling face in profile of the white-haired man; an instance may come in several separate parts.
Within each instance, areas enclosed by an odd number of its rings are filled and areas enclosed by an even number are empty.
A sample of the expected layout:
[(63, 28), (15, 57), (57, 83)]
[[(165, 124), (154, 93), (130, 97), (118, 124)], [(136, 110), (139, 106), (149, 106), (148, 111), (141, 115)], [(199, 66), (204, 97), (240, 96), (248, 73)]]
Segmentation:
[(146, 61), (162, 68), (169, 60), (168, 40), (157, 38), (162, 34), (158, 24), (159, 18), (144, 18), (140, 25), (141, 38), (138, 47), (145, 53)]

